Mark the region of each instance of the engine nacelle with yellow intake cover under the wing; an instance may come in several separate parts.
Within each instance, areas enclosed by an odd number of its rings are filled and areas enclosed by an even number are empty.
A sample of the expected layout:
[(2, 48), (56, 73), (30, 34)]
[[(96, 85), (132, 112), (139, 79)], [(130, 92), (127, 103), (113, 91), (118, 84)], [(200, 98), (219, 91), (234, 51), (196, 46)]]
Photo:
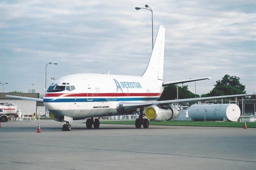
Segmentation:
[(179, 116), (180, 112), (171, 107), (167, 109), (162, 109), (158, 106), (150, 106), (145, 110), (145, 116), (150, 119), (150, 121), (168, 121), (174, 120)]

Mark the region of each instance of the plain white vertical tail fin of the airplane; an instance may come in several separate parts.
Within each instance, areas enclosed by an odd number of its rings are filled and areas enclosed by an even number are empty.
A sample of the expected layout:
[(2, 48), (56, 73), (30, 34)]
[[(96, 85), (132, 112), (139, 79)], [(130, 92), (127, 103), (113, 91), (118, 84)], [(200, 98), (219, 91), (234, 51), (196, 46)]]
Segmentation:
[(143, 73), (142, 77), (148, 77), (151, 79), (163, 79), (164, 72), (164, 36), (165, 27), (160, 26), (156, 36), (153, 51), (151, 53), (148, 67)]

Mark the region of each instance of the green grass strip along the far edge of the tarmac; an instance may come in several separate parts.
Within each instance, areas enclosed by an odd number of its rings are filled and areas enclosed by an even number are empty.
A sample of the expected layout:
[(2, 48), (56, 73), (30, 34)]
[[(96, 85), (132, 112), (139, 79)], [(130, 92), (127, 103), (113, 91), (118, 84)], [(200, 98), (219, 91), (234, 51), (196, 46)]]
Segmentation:
[[(135, 125), (135, 121), (100, 121), (102, 124)], [(189, 127), (244, 127), (244, 122), (218, 122), (218, 121), (150, 121), (149, 125), (189, 126)], [(247, 128), (256, 128), (256, 122), (248, 122)]]

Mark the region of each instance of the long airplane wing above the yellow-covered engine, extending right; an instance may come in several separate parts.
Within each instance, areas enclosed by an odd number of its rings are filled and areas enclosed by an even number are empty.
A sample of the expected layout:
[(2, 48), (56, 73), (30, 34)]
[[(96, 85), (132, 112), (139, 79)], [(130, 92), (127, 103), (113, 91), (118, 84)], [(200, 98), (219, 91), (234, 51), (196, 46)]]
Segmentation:
[(214, 96), (214, 97), (201, 97), (201, 98), (191, 98), (191, 99), (178, 99), (178, 100), (166, 100), (166, 101), (152, 101), (152, 102), (120, 102), (118, 103), (118, 109), (129, 110), (136, 109), (139, 107), (147, 107), (151, 105), (169, 105), (176, 103), (186, 103), (192, 101), (204, 101), (204, 100), (212, 100), (212, 99), (223, 99), (223, 98), (232, 98), (232, 97), (245, 97), (245, 96), (253, 96), (256, 93), (251, 94), (242, 94), (242, 95), (226, 95), (226, 96)]

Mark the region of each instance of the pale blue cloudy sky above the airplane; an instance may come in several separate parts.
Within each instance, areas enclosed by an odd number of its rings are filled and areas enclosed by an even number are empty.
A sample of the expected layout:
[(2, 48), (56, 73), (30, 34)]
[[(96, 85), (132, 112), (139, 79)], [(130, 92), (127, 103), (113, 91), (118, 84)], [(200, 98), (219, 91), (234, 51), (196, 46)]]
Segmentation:
[[(164, 81), (199, 77), (209, 93), (224, 75), (256, 93), (255, 0), (0, 0), (0, 82), (4, 92), (44, 93), (75, 73), (142, 75), (160, 25)], [(185, 83), (193, 93), (195, 83)], [(2, 86), (0, 85), (0, 92)]]

